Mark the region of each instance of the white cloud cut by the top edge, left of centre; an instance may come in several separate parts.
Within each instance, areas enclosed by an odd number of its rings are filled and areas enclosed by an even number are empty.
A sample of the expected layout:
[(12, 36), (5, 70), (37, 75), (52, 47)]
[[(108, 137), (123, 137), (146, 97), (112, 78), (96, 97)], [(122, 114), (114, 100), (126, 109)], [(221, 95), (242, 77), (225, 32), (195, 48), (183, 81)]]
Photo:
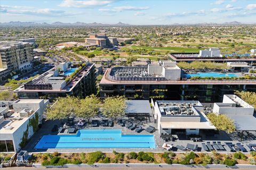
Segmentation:
[(61, 7), (78, 7), (78, 8), (93, 8), (97, 6), (106, 6), (109, 5), (113, 1), (73, 1), (73, 0), (65, 0), (60, 3)]

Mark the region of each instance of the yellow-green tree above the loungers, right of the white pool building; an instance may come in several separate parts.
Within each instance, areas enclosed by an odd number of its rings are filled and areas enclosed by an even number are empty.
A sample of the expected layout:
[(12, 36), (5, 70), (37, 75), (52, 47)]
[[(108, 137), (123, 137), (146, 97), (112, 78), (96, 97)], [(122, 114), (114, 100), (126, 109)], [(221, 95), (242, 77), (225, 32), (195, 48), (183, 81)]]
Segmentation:
[(235, 132), (236, 126), (234, 121), (228, 118), (226, 115), (210, 113), (207, 116), (218, 130), (226, 131), (227, 133)]

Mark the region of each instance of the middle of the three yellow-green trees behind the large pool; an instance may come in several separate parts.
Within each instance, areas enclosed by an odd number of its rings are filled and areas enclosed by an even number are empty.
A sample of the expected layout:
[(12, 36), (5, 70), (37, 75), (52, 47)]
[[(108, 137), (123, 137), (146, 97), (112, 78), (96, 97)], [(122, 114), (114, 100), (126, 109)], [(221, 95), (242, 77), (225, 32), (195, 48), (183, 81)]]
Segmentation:
[(90, 118), (99, 114), (100, 99), (94, 95), (87, 96), (85, 99), (79, 100), (78, 108), (76, 116), (86, 118), (89, 122)]

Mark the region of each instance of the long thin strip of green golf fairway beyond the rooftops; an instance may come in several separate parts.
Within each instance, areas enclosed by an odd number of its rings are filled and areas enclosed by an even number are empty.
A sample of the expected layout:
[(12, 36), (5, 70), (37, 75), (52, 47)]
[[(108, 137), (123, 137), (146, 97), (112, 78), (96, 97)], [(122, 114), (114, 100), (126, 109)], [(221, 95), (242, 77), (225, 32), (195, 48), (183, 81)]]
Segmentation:
[(146, 46), (131, 46), (132, 48), (144, 48), (148, 50), (163, 50), (177, 53), (198, 53), (199, 48), (183, 48), (183, 47), (146, 47)]

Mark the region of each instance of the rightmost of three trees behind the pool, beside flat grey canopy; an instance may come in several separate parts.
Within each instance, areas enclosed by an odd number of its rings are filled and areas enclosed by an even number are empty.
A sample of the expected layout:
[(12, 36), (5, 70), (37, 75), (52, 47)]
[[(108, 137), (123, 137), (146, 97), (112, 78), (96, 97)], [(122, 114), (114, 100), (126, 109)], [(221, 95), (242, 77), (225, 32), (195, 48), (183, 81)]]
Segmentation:
[(122, 117), (125, 114), (126, 98), (124, 96), (108, 97), (102, 104), (102, 114), (114, 118)]

